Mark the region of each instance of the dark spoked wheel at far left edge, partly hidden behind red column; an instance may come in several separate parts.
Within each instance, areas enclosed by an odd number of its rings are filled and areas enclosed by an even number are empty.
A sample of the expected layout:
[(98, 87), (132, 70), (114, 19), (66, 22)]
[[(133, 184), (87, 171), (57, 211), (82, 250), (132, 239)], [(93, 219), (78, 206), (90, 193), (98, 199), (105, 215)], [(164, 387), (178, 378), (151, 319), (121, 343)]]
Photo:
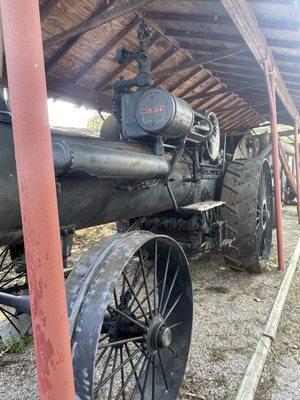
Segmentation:
[[(26, 269), (24, 259), (21, 256), (12, 259), (11, 253), (14, 251), (15, 248), (10, 249), (9, 247), (0, 249), (0, 292), (20, 294), (28, 288)], [(1, 314), (20, 333), (18, 316), (14, 310), (0, 305), (0, 317)]]

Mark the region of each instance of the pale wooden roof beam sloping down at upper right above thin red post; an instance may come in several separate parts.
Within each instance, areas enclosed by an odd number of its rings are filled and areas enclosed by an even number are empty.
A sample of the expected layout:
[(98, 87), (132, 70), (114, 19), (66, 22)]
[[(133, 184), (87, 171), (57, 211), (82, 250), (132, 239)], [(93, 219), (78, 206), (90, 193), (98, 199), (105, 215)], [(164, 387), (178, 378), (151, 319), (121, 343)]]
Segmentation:
[(262, 60), (268, 60), (269, 68), (273, 70), (275, 76), (276, 92), (279, 98), (292, 118), (298, 119), (298, 110), (249, 3), (246, 0), (221, 0), (221, 2), (262, 68)]

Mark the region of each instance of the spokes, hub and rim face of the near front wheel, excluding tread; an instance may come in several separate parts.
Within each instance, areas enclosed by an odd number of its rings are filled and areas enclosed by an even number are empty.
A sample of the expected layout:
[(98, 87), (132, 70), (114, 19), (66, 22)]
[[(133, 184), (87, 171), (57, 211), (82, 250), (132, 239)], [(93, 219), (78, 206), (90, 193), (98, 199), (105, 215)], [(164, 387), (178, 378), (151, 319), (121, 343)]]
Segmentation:
[[(90, 382), (93, 390), (89, 392), (90, 397), (86, 398), (171, 400), (177, 397), (190, 345), (192, 292), (185, 256), (179, 245), (176, 244), (175, 247), (174, 243), (171, 239), (161, 236), (151, 239), (141, 246), (142, 250), (135, 252), (131, 259), (139, 258), (139, 254), (144, 256), (146, 251), (150, 259), (157, 260), (157, 268), (155, 269), (154, 263), (151, 272), (149, 259), (144, 260), (148, 263), (144, 265), (144, 269), (140, 263), (138, 284), (132, 285), (133, 275), (129, 271), (124, 270), (120, 274), (122, 284), (119, 280), (112, 292), (109, 313), (105, 313), (101, 334), (99, 333), (97, 338), (93, 382)], [(170, 254), (166, 251), (168, 246), (172, 247)], [(182, 254), (179, 255), (178, 249)], [(186, 264), (183, 266), (179, 263), (175, 268), (175, 259), (177, 263), (182, 262), (182, 256)], [(162, 268), (163, 264), (165, 268)], [(155, 288), (153, 285), (151, 287), (152, 280), (158, 282), (155, 297)], [(149, 284), (148, 289), (145, 282)], [(130, 286), (136, 292), (135, 295), (132, 294)], [(128, 289), (132, 294), (127, 304), (131, 307), (131, 312), (128, 312), (124, 302)], [(152, 296), (150, 302), (146, 296), (147, 292)], [(136, 328), (130, 331), (130, 337), (127, 339), (125, 336), (128, 331), (125, 332), (126, 324), (121, 324), (122, 318), (128, 322), (130, 329)], [(115, 319), (115, 325), (111, 323), (112, 319)], [(116, 335), (120, 326), (123, 336)]]

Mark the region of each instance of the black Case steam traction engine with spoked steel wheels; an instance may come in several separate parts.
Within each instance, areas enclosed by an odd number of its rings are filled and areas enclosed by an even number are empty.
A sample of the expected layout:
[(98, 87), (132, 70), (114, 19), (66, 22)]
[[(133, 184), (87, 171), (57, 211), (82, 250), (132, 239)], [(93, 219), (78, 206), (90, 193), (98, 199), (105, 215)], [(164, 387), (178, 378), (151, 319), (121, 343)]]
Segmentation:
[[(117, 58), (135, 58), (139, 73), (115, 84), (115, 113), (100, 138), (52, 132), (65, 261), (75, 230), (113, 221), (119, 228), (66, 280), (82, 400), (176, 399), (192, 329), (187, 256), (222, 251), (233, 268), (260, 272), (270, 253), (268, 163), (259, 156), (232, 161), (215, 114), (155, 87), (143, 23), (138, 35), (139, 49)], [(0, 121), (0, 304), (14, 324), (30, 310), (4, 104)]]

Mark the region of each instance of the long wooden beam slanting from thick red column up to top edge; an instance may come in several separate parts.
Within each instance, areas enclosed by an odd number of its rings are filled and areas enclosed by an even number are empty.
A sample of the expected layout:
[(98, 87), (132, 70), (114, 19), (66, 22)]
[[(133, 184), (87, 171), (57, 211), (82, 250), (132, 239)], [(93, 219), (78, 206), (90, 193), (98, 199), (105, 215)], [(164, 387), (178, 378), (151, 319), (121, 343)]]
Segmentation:
[(132, 11), (136, 11), (146, 4), (151, 3), (154, 0), (127, 0), (126, 3), (121, 3), (115, 6), (112, 10), (107, 11), (104, 14), (98, 15), (87, 21), (83, 21), (80, 24), (74, 26), (73, 28), (67, 29), (57, 35), (54, 35), (46, 40), (44, 40), (44, 47), (48, 48), (61, 43), (63, 40), (70, 39), (80, 33), (88, 32), (92, 29), (99, 28), (100, 26), (110, 22), (116, 18), (120, 18)]

